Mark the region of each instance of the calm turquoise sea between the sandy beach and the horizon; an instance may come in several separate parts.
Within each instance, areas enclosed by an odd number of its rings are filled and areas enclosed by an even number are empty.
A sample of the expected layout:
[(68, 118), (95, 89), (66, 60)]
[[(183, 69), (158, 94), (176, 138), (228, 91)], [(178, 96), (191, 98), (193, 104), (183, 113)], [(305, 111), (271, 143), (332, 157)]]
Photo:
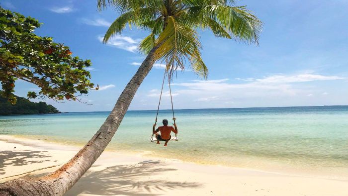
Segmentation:
[[(171, 112), (160, 110), (159, 119), (170, 120)], [(0, 134), (82, 146), (108, 113), (0, 116)], [(201, 164), (348, 177), (348, 106), (175, 110), (179, 141), (171, 141), (168, 147), (150, 143), (155, 116), (155, 110), (128, 111), (108, 150)]]

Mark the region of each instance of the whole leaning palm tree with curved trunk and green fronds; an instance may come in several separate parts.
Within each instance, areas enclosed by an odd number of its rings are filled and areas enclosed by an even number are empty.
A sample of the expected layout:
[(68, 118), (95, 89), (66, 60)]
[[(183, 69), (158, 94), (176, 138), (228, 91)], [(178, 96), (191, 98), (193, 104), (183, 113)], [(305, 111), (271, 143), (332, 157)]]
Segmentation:
[(120, 125), (132, 98), (156, 61), (166, 61), (169, 76), (189, 66), (199, 77), (208, 69), (201, 55), (197, 29), (217, 37), (258, 44), (261, 21), (234, 0), (97, 0), (99, 10), (113, 7), (120, 16), (111, 24), (104, 43), (128, 24), (149, 31), (139, 50), (144, 62), (118, 98), (95, 135), (68, 163), (39, 178), (20, 178), (0, 185), (0, 195), (63, 195), (104, 151)]

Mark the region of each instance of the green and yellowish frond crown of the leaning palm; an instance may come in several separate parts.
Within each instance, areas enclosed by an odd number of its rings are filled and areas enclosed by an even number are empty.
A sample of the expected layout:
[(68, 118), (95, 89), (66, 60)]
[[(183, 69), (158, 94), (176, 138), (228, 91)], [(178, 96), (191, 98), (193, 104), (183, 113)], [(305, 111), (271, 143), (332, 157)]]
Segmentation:
[(106, 43), (128, 24), (150, 31), (139, 46), (147, 55), (160, 44), (155, 55), (167, 62), (170, 75), (184, 70), (186, 62), (193, 72), (207, 78), (196, 29), (210, 29), (215, 36), (259, 43), (262, 22), (234, 0), (97, 0), (98, 9), (114, 7), (120, 16), (104, 36)]

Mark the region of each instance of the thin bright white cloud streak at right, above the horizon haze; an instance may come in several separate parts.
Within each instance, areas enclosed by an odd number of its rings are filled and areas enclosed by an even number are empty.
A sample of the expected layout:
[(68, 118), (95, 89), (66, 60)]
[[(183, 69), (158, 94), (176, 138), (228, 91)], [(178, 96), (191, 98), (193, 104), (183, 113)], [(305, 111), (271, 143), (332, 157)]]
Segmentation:
[(311, 82), (311, 81), (324, 81), (324, 80), (342, 80), (345, 78), (339, 76), (323, 76), (313, 74), (300, 74), (295, 76), (273, 75), (267, 76), (263, 79), (257, 79), (257, 82), (261, 83), (295, 83), (295, 82)]

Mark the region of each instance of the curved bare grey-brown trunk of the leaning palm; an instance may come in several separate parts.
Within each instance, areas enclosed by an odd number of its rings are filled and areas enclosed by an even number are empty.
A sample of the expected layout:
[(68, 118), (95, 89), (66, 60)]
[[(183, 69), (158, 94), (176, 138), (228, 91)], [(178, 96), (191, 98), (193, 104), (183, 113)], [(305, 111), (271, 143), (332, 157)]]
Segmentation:
[(154, 47), (118, 98), (110, 115), (88, 143), (65, 165), (47, 176), (20, 178), (0, 184), (0, 196), (62, 196), (85, 174), (116, 133), (140, 84), (153, 67)]

